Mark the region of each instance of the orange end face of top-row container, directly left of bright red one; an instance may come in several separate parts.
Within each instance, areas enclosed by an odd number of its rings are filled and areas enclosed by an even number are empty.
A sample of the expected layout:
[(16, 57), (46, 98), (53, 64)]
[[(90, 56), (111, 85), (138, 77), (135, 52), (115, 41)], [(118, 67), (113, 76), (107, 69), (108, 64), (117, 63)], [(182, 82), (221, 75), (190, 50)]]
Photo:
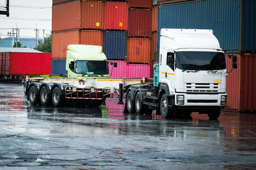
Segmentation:
[(104, 3), (82, 1), (80, 20), (82, 29), (104, 29)]

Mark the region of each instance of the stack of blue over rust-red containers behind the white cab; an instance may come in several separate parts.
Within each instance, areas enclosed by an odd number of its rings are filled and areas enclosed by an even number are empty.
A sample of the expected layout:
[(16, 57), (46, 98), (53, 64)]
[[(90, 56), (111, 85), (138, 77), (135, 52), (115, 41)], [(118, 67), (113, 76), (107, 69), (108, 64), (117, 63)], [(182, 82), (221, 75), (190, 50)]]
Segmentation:
[[(256, 1), (158, 0), (157, 7), (157, 50), (161, 28), (212, 29), (221, 48), (239, 56), (238, 69), (227, 76), (227, 108), (256, 110)], [(230, 71), (232, 60), (226, 62)]]

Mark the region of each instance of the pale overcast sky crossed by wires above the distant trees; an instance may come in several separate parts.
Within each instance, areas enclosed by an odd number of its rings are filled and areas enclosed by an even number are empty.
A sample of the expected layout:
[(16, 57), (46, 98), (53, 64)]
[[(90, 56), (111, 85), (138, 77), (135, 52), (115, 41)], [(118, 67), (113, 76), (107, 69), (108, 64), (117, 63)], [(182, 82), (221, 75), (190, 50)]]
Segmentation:
[[(0, 0), (0, 6), (6, 6)], [(6, 38), (13, 28), (20, 29), (20, 38), (43, 38), (52, 29), (52, 0), (10, 0), (10, 17), (0, 15), (0, 36)]]

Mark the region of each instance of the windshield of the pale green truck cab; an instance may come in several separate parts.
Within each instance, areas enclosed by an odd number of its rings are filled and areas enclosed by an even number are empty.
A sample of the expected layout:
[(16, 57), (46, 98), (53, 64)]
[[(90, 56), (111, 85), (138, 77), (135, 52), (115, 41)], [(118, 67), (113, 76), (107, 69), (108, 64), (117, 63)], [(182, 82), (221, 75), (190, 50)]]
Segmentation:
[(76, 60), (77, 74), (108, 74), (108, 61)]

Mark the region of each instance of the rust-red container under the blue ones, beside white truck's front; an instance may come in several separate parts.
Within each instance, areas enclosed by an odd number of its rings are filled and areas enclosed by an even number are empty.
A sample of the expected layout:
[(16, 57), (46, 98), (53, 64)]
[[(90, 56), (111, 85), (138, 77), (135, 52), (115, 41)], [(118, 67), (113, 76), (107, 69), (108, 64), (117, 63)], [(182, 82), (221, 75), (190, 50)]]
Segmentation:
[[(238, 55), (237, 69), (227, 76), (227, 108), (238, 111), (256, 110), (256, 54)], [(226, 57), (227, 71), (232, 59)]]

